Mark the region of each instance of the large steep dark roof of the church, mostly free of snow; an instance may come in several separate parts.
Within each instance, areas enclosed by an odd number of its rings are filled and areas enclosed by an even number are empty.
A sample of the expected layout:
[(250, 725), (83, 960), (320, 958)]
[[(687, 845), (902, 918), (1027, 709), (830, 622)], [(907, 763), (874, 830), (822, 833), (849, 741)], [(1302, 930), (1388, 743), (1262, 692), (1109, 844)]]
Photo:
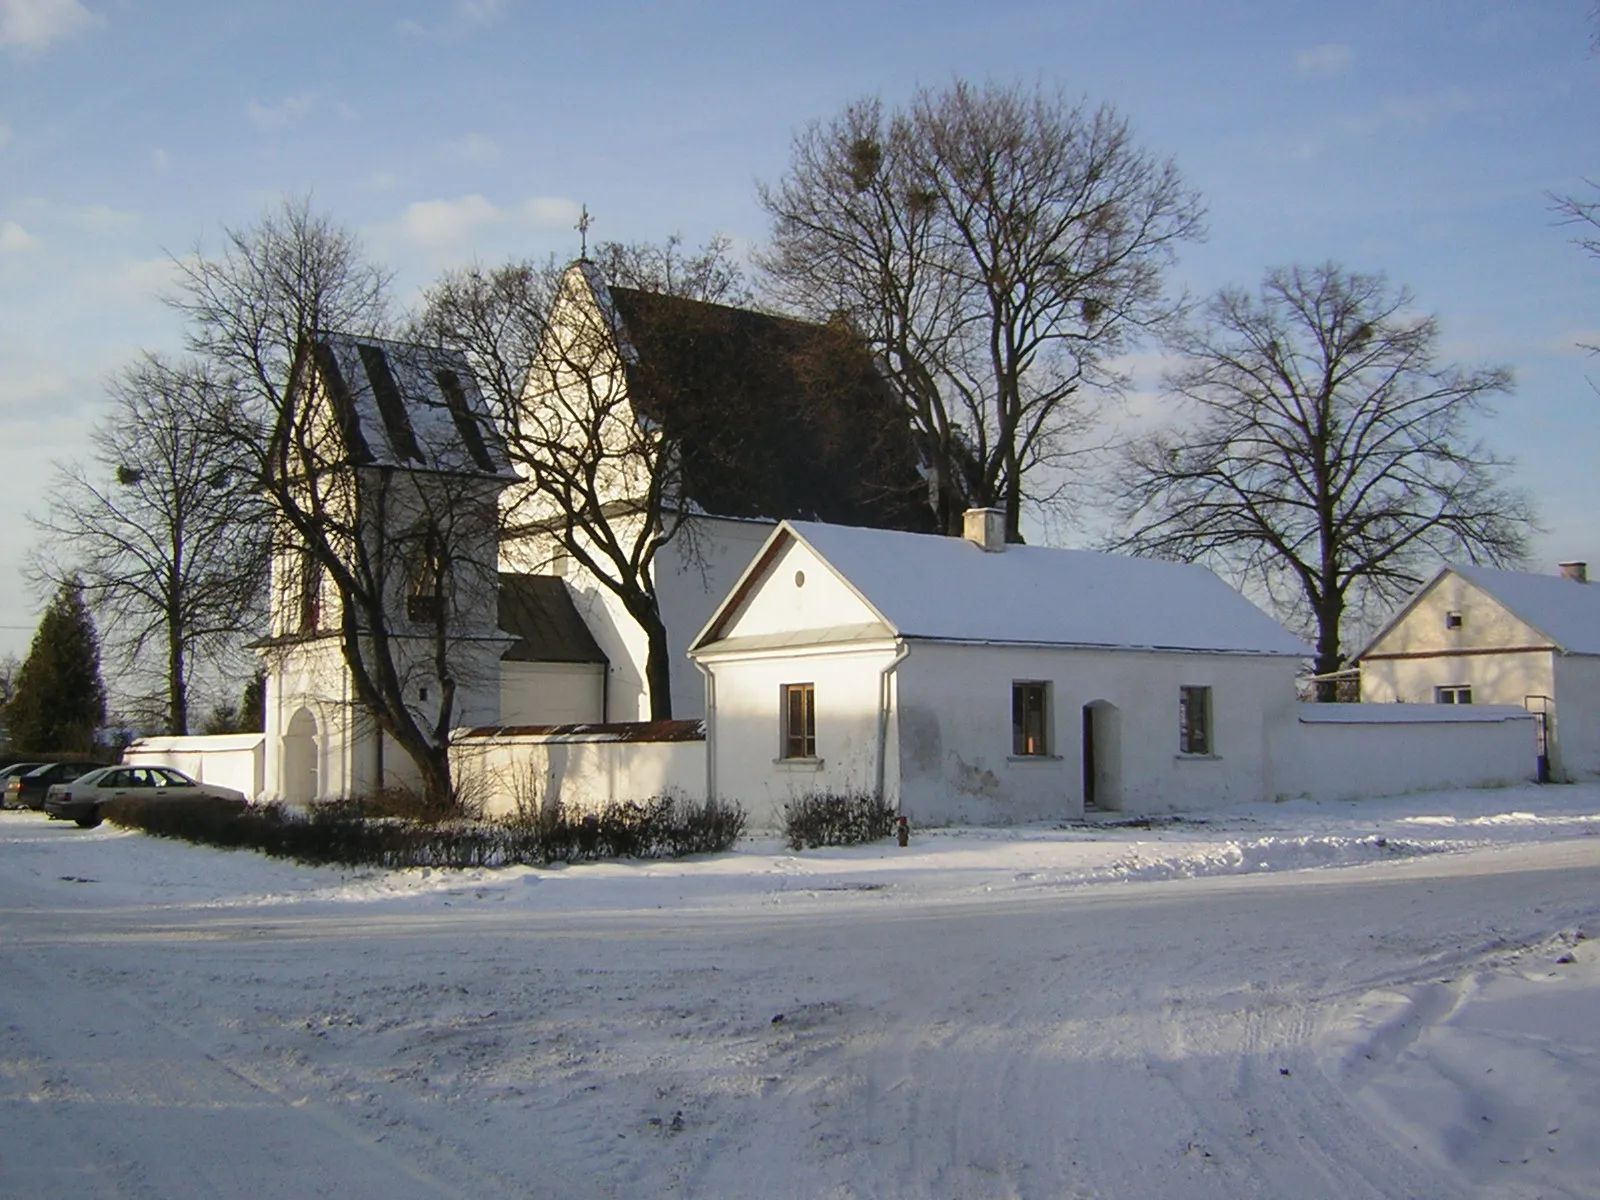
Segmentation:
[(931, 531), (906, 414), (843, 326), (610, 288), (637, 411), (682, 445), (682, 499), (722, 517)]

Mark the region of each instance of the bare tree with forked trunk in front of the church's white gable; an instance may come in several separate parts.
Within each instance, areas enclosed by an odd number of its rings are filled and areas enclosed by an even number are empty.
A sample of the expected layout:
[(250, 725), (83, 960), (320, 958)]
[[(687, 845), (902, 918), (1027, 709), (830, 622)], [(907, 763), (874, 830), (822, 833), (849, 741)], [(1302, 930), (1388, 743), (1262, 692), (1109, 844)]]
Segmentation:
[(451, 272), (427, 293), (418, 339), (474, 365), (530, 485), (507, 507), (507, 533), (546, 539), (618, 597), (646, 638), (651, 720), (666, 720), (670, 653), (654, 563), (688, 517), (678, 490), (685, 430), (642, 411), (635, 389), (646, 381), (630, 368), (658, 347), (630, 344), (603, 298), (611, 285), (710, 302), (749, 291), (723, 238), (693, 253), (675, 237), (659, 246), (613, 242), (595, 256), (571, 270), (514, 262)]

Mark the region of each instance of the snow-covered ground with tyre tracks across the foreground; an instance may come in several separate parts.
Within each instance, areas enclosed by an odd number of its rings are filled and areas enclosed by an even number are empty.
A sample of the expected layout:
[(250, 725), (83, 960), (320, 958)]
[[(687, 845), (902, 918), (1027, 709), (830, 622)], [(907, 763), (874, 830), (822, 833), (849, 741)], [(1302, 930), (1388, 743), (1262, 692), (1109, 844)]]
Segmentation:
[(1600, 1197), (1600, 787), (466, 874), (3, 813), (0, 1197), (190, 1195)]

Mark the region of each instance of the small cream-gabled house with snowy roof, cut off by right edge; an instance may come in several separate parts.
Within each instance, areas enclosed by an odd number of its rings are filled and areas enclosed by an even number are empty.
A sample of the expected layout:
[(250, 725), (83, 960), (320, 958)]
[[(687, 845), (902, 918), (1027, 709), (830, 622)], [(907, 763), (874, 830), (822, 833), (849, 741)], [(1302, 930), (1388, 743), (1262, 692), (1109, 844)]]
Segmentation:
[(1541, 714), (1550, 776), (1600, 778), (1600, 587), (1446, 566), (1355, 656), (1362, 699), (1462, 698)]

